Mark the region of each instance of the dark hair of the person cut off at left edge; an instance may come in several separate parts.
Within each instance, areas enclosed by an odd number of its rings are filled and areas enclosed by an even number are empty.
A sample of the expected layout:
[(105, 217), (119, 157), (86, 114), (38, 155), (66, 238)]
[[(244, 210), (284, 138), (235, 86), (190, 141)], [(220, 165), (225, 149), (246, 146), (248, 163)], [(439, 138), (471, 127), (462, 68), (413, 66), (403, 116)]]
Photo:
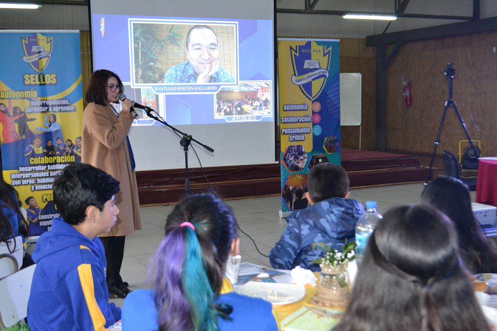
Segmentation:
[[(17, 193), (12, 185), (5, 182), (3, 176), (0, 176), (0, 200), (3, 201), (4, 206), (12, 208), (17, 214), (19, 232), (24, 235), (24, 238), (27, 238), (29, 236), (28, 224), (19, 209), (19, 193)], [(11, 215), (9, 215), (9, 217), (10, 216)], [(3, 208), (0, 208), (0, 242), (3, 243), (7, 243), (8, 237), (14, 237), (14, 231), (12, 229), (12, 225), (10, 224), (9, 217), (5, 215)], [(15, 241), (12, 250), (10, 250), (10, 247), (8, 247), (8, 249), (9, 251), (15, 250)]]

